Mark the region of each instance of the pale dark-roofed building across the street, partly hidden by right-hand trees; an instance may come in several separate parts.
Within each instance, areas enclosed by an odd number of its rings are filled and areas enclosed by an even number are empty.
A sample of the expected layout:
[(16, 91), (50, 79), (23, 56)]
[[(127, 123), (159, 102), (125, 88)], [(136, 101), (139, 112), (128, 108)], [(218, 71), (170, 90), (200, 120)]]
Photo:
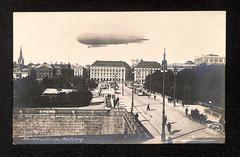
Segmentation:
[(161, 65), (158, 62), (143, 61), (134, 67), (134, 81), (140, 84), (145, 83), (146, 76), (154, 73), (156, 70), (161, 70)]

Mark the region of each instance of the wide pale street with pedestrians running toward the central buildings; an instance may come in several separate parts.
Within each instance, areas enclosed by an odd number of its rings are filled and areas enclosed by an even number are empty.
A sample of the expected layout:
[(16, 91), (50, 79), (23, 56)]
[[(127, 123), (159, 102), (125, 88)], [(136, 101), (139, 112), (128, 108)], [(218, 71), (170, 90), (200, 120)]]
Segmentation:
[[(120, 107), (125, 107), (129, 112), (131, 111), (132, 90), (124, 87), (124, 96), (118, 95), (120, 98)], [(166, 102), (166, 101), (165, 101)], [(147, 104), (150, 105), (150, 111), (147, 111)], [(172, 103), (166, 102), (165, 113), (167, 115), (167, 123), (171, 123), (171, 134), (165, 128), (166, 140), (171, 137), (173, 143), (215, 143), (224, 142), (224, 136), (220, 134), (212, 134), (207, 130), (207, 126), (190, 120), (182, 111), (182, 106), (177, 104), (173, 107)], [(134, 95), (134, 109), (133, 113), (138, 112), (140, 122), (147, 128), (147, 130), (154, 136), (154, 139), (146, 143), (161, 143), (162, 130), (162, 98), (159, 96), (156, 100), (153, 96)]]

